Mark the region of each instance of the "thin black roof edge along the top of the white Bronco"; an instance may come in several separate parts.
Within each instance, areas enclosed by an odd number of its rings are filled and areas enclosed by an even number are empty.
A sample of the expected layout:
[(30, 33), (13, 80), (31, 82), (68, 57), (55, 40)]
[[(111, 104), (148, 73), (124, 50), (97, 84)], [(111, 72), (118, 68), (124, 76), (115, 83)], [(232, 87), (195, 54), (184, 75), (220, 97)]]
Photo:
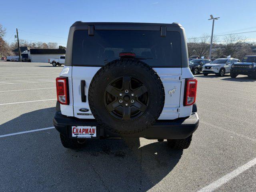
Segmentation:
[(76, 21), (72, 26), (75, 25), (154, 25), (154, 26), (177, 26), (182, 27), (179, 23), (132, 23), (132, 22), (82, 22)]

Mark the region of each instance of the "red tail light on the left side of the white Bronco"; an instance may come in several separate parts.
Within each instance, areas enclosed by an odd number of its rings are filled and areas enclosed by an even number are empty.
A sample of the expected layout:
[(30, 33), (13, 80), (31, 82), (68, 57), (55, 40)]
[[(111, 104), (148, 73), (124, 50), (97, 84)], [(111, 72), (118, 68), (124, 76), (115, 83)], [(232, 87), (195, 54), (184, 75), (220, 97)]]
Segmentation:
[(57, 100), (60, 104), (68, 105), (68, 78), (57, 77), (56, 78)]

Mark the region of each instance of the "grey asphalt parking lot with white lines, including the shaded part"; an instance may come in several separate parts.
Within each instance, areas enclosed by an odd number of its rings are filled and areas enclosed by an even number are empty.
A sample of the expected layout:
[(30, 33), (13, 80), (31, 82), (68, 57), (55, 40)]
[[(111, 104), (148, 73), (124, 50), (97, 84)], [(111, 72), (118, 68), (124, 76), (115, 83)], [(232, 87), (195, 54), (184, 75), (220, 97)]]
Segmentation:
[(61, 70), (0, 62), (0, 191), (255, 191), (256, 80), (196, 75), (200, 125), (186, 150), (144, 138), (70, 150), (52, 128)]

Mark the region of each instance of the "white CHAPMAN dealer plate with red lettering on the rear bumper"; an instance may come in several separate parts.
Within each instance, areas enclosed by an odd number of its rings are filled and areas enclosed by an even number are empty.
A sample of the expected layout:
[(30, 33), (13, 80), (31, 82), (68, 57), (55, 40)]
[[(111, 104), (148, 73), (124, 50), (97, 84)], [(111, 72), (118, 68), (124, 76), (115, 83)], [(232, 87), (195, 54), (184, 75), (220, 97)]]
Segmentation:
[(93, 138), (96, 137), (96, 126), (72, 126), (72, 137)]

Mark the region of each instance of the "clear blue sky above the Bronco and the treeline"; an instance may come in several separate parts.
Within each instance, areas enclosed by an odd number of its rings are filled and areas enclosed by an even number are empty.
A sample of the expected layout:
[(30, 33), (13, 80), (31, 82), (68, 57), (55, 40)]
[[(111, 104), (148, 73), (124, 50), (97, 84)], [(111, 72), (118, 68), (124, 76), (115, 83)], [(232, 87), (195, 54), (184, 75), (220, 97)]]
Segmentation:
[[(20, 39), (65, 46), (69, 27), (79, 20), (179, 22), (190, 38), (211, 33), (212, 21), (208, 18), (213, 14), (220, 17), (214, 26), (216, 35), (256, 30), (255, 0), (9, 0), (2, 2), (1, 7), (0, 23), (7, 29), (8, 42), (14, 40), (18, 28)], [(242, 36), (256, 38), (256, 32)]]

